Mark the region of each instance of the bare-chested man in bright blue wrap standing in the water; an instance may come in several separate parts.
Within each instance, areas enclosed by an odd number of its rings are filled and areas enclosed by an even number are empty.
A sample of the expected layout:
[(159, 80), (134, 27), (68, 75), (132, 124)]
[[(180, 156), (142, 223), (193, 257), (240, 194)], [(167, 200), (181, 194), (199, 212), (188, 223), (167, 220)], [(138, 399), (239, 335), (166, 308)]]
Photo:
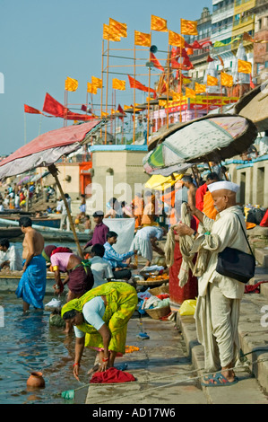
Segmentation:
[(27, 312), (30, 304), (34, 308), (43, 309), (43, 299), (46, 292), (47, 266), (42, 256), (44, 249), (43, 236), (31, 227), (28, 216), (20, 218), (19, 224), (24, 233), (22, 242), (22, 278), (16, 290), (16, 295), (22, 297), (23, 312)]

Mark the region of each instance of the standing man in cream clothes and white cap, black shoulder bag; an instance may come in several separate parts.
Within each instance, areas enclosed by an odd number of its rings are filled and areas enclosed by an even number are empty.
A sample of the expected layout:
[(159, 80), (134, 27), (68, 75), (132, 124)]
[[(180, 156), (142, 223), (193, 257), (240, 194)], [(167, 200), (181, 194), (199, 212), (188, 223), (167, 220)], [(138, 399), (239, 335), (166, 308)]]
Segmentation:
[[(198, 340), (204, 347), (205, 370), (221, 371), (214, 376), (209, 375), (204, 384), (222, 385), (238, 382), (231, 368), (238, 363), (239, 306), (245, 286), (233, 278), (221, 276), (216, 271), (218, 254), (226, 247), (247, 252), (248, 246), (238, 221), (239, 218), (246, 233), (243, 214), (236, 206), (238, 185), (219, 181), (212, 183), (208, 188), (212, 192), (214, 207), (219, 213), (216, 221), (203, 215), (195, 207), (191, 208), (192, 214), (200, 220), (200, 234), (195, 242), (198, 238), (200, 242), (201, 236), (201, 247), (209, 251), (206, 269), (198, 279), (195, 321)], [(177, 227), (180, 227), (180, 235), (190, 235), (194, 232), (193, 229), (186, 229), (185, 224), (179, 224)], [(212, 237), (216, 242), (212, 242)], [(211, 245), (214, 246), (213, 250)]]

